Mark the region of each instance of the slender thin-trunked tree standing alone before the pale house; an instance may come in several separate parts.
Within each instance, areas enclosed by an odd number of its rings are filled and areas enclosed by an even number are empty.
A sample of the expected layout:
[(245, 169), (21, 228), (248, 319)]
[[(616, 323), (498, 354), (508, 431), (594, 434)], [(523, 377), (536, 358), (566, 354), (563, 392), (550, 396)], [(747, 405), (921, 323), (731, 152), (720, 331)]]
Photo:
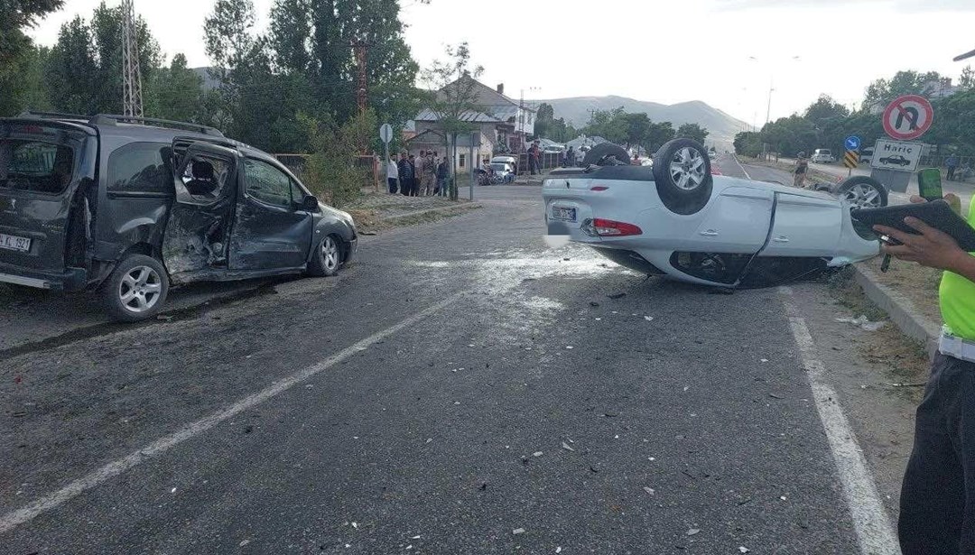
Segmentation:
[(423, 80), (431, 86), (428, 105), (437, 116), (450, 152), (450, 200), (457, 200), (456, 160), (457, 137), (474, 130), (467, 121), (472, 112), (480, 111), (477, 104), (477, 78), (484, 67), (471, 65), (471, 51), (467, 43), (447, 47), (446, 60), (434, 60), (423, 71)]

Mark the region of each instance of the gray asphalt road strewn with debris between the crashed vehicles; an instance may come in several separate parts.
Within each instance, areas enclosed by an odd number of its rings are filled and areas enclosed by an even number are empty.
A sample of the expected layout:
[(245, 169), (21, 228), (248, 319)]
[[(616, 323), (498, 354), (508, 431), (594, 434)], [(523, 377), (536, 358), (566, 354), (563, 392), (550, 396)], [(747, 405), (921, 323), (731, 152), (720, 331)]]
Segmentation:
[(860, 552), (780, 292), (477, 192), (338, 278), (0, 351), (0, 553)]

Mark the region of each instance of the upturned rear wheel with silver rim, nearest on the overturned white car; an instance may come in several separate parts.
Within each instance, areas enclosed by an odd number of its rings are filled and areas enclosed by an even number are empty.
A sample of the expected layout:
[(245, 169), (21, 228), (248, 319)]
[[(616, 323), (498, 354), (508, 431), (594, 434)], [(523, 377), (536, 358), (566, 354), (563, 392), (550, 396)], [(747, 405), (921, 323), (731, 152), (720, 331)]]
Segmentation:
[(711, 200), (714, 187), (711, 159), (700, 142), (693, 139), (666, 142), (653, 155), (653, 161), (657, 194), (671, 212), (694, 214)]

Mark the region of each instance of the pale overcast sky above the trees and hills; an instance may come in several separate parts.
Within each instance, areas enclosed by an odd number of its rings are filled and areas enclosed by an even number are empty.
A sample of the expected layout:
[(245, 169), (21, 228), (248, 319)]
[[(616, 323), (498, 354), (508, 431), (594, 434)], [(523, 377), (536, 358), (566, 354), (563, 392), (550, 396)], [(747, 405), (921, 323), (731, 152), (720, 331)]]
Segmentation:
[[(57, 41), (64, 21), (99, 0), (67, 0), (31, 33)], [(117, 5), (119, 0), (108, 0)], [(273, 0), (254, 0), (266, 27)], [(704, 100), (749, 123), (801, 110), (820, 93), (850, 105), (899, 69), (956, 76), (975, 49), (975, 0), (401, 0), (421, 65), (467, 41), (483, 81), (526, 99), (618, 95)], [(136, 0), (164, 52), (207, 65), (213, 0)], [(758, 60), (751, 60), (755, 57)], [(795, 59), (795, 57), (799, 57)], [(558, 116), (558, 114), (556, 114)]]

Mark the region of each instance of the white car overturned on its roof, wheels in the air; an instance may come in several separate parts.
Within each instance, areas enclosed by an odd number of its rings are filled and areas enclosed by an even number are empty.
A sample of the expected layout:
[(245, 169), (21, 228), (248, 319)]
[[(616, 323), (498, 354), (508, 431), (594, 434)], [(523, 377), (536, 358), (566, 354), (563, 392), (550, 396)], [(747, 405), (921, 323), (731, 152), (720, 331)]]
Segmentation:
[(879, 241), (829, 193), (711, 175), (703, 146), (675, 139), (652, 169), (601, 144), (585, 168), (545, 180), (550, 235), (648, 274), (723, 288), (767, 287), (873, 258)]

